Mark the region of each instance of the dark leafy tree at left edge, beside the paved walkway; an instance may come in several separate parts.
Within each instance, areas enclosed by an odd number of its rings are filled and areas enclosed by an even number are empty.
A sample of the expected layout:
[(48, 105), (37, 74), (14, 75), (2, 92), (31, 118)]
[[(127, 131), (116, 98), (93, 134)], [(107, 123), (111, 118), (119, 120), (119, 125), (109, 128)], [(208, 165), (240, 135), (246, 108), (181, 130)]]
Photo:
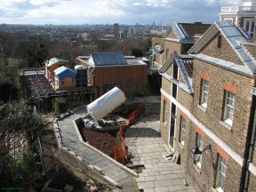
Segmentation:
[[(38, 134), (44, 132), (44, 121), (32, 116), (32, 110), (25, 103), (0, 102), (0, 186), (28, 186), (43, 174), (33, 152), (14, 153), (27, 142), (32, 144)], [(12, 142), (20, 139), (19, 145)]]

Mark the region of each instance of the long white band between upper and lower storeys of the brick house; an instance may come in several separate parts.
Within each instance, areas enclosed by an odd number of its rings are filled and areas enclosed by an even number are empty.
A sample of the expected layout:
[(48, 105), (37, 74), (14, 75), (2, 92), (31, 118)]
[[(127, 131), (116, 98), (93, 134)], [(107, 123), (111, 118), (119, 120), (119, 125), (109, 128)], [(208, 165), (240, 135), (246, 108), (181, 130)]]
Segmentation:
[[(196, 116), (193, 116), (193, 114), (191, 114), (187, 108), (185, 108), (177, 100), (172, 98), (171, 95), (169, 95), (167, 92), (164, 92), (163, 89), (161, 89), (161, 93), (164, 95), (165, 98), (167, 98), (168, 100), (171, 100), (177, 106), (177, 108), (180, 108), (180, 110), (183, 113), (185, 113), (188, 116), (188, 118), (194, 124), (196, 124), (196, 126), (199, 129), (201, 129), (213, 142), (215, 142), (218, 146), (220, 146), (220, 148), (222, 148), (228, 154), (228, 156), (230, 156), (232, 159), (234, 159), (237, 164), (239, 164), (240, 166), (243, 166), (244, 158), (242, 156), (240, 156), (233, 148), (230, 148), (228, 146), (228, 144), (226, 142), (224, 142), (223, 140), (221, 140), (214, 132), (211, 131), (211, 129), (207, 128), (204, 124), (202, 124), (196, 118)], [(256, 170), (255, 170), (255, 172), (256, 172)]]

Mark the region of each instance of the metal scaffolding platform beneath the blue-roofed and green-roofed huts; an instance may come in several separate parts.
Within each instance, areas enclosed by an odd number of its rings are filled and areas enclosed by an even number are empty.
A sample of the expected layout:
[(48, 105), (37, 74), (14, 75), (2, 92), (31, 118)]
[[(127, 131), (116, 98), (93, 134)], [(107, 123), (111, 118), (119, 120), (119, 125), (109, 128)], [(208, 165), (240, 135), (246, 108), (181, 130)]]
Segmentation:
[(82, 97), (84, 94), (87, 94), (90, 95), (90, 100), (92, 101), (98, 93), (98, 88), (95, 86), (79, 86), (66, 90), (55, 90), (55, 82), (47, 79), (42, 69), (24, 70), (22, 75), (28, 80), (26, 100), (28, 100), (28, 103), (36, 105), (37, 109), (41, 112), (46, 111), (49, 98), (70, 95), (80, 95)]

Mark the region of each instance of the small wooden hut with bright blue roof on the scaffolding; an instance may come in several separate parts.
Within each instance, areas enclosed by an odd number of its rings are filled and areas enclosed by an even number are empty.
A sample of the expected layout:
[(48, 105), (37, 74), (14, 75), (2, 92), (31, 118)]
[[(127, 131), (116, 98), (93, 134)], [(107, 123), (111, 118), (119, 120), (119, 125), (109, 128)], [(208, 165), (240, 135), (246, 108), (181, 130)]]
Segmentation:
[(65, 66), (54, 70), (55, 90), (72, 89), (76, 87), (76, 71)]

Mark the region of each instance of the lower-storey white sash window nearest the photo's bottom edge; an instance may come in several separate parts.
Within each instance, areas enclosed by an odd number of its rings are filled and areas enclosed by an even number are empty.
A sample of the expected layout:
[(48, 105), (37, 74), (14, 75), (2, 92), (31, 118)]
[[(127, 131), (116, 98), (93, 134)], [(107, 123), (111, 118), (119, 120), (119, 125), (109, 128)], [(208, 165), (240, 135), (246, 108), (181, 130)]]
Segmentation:
[(224, 185), (226, 180), (226, 170), (227, 170), (227, 161), (219, 155), (218, 160), (218, 170), (217, 170), (217, 180), (216, 180), (216, 189), (219, 192), (224, 191)]

